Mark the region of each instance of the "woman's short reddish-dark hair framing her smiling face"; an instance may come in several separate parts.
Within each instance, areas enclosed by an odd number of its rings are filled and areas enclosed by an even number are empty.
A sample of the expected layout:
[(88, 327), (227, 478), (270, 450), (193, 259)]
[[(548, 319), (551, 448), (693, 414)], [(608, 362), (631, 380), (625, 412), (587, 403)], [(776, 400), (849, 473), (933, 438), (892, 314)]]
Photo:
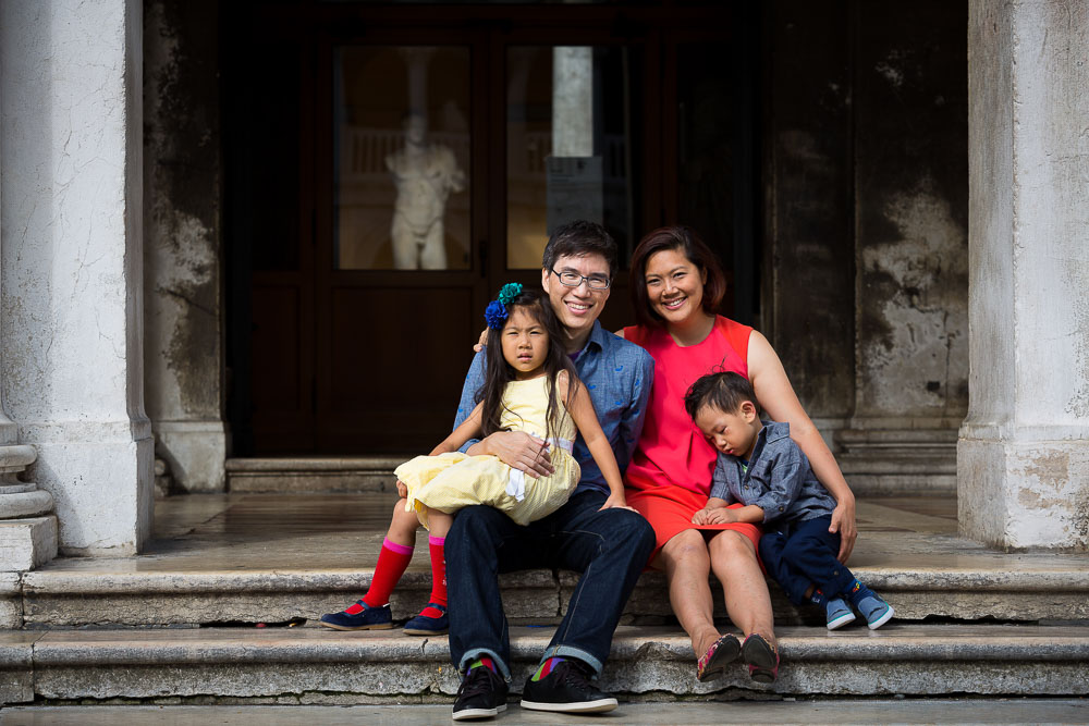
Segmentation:
[(710, 315), (719, 311), (719, 305), (726, 294), (726, 275), (718, 256), (686, 226), (663, 226), (647, 234), (632, 255), (632, 307), (640, 325), (660, 327), (662, 317), (650, 307), (647, 295), (647, 261), (654, 253), (664, 249), (680, 249), (688, 261), (707, 274), (703, 283), (703, 310)]

